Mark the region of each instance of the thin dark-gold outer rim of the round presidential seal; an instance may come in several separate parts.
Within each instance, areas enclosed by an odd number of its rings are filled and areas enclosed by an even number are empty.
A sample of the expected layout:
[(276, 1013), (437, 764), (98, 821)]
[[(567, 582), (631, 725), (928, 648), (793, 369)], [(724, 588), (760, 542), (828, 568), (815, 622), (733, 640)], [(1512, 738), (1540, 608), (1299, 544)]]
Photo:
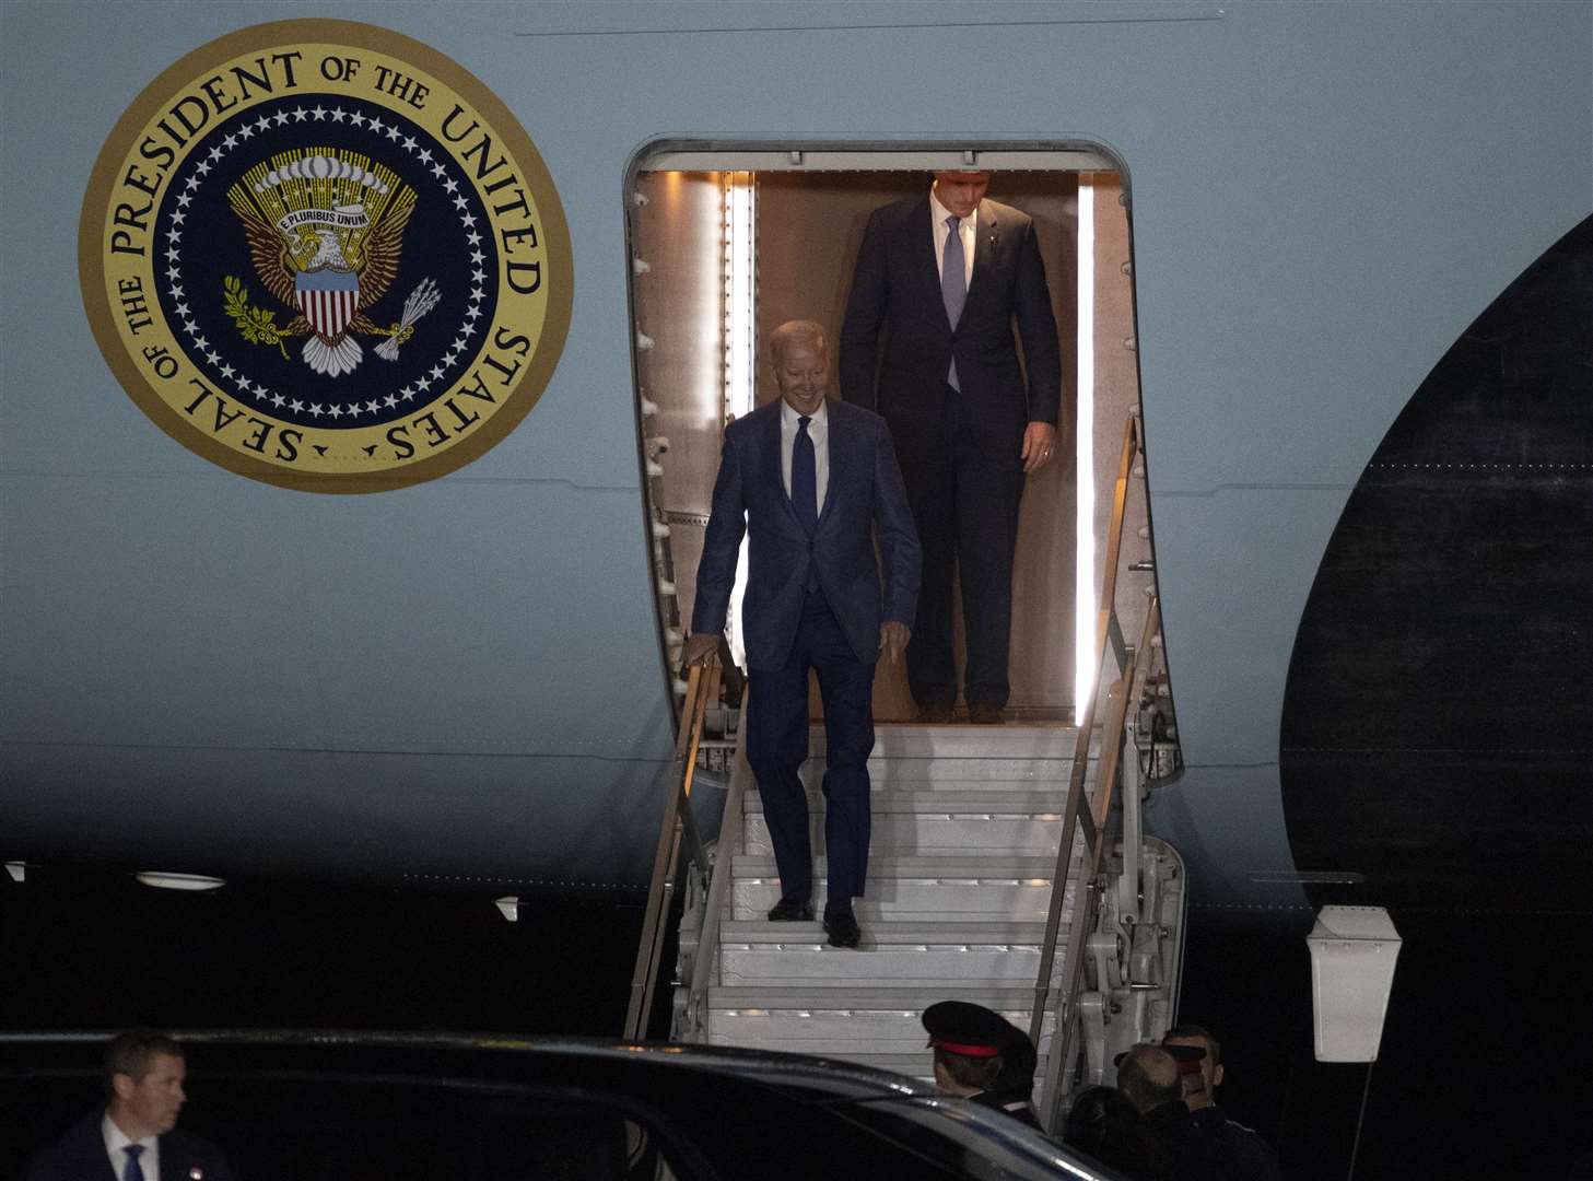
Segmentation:
[[(135, 147), (134, 137), (137, 132), (148, 126), (172, 94), (185, 86), (191, 86), (198, 77), (217, 62), (226, 62), (239, 54), (260, 49), (292, 48), (295, 43), (317, 41), (357, 46), (387, 54), (398, 62), (413, 62), (436, 78), (444, 80), (460, 97), (473, 104), (475, 110), (499, 137), (499, 142), (508, 148), (510, 158), (519, 166), (519, 172), (532, 191), (540, 215), (538, 230), (542, 231), (542, 242), (545, 244), (548, 260), (542, 333), (537, 338), (535, 351), (526, 359), (526, 371), (503, 398), (497, 413), (481, 424), (479, 432), (460, 438), (459, 443), (441, 454), (386, 472), (362, 475), (285, 470), (276, 464), (250, 459), (226, 443), (193, 430), (191, 424), (177, 419), (170, 406), (139, 368), (134, 355), (127, 351), (116, 327), (115, 316), (118, 309), (110, 303), (105, 282), (105, 217), (110, 210), (112, 193), (119, 180), (119, 164), (129, 148)], [(105, 137), (105, 143), (94, 163), (94, 172), (89, 177), (88, 191), (83, 198), (83, 214), (78, 220), (78, 285), (83, 295), (83, 309), (88, 314), (89, 327), (94, 332), (100, 354), (139, 410), (183, 449), (198, 454), (201, 459), (207, 459), (236, 475), (301, 492), (386, 492), (409, 488), (456, 472), (492, 449), (530, 413), (530, 408), (542, 398), (548, 381), (553, 378), (559, 357), (564, 354), (566, 338), (569, 336), (570, 311), (575, 298), (573, 282), (575, 263), (570, 252), (570, 230), (564, 218), (564, 206), (559, 201), (558, 188), (553, 183), (548, 166), (542, 159), (542, 153), (537, 151), (530, 137), (521, 128), (519, 120), (515, 118), (510, 108), (479, 78), (446, 54), (403, 33), (357, 21), (271, 21), (226, 33), (183, 54), (183, 57), (162, 70), (139, 92), (139, 97), (123, 112), (121, 118), (116, 120), (116, 126)]]

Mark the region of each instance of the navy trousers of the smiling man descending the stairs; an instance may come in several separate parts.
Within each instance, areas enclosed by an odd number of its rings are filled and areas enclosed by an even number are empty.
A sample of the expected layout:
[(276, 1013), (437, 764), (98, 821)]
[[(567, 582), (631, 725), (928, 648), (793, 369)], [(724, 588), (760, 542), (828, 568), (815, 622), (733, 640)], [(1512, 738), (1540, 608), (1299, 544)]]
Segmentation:
[(851, 908), (868, 877), (868, 755), (875, 749), (875, 665), (852, 652), (822, 590), (808, 591), (784, 668), (750, 669), (747, 762), (781, 872), (781, 897), (812, 897), (808, 794), (808, 669), (824, 700), (824, 845), (830, 864), (827, 912)]

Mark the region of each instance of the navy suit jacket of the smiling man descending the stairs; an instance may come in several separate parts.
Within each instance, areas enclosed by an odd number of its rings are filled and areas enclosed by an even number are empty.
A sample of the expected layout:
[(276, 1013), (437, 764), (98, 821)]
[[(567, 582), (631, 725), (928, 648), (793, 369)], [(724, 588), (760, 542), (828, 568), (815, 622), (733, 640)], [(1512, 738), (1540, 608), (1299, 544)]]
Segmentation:
[[(781, 477), (779, 398), (725, 427), (714, 508), (698, 564), (691, 630), (725, 630), (736, 556), (747, 536), (742, 604), (747, 663), (781, 668), (801, 622), (809, 567), (859, 660), (879, 655), (881, 620), (913, 625), (921, 553), (890, 432), (878, 414), (828, 402), (830, 483), (812, 539), (803, 531)], [(884, 559), (884, 587), (875, 534)]]

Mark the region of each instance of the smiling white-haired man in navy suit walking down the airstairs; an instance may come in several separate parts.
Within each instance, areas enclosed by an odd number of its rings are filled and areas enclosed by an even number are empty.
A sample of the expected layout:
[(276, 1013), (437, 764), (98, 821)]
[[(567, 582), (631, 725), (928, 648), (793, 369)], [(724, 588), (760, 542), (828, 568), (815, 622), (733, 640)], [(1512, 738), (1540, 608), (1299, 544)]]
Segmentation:
[(827, 746), (824, 928), (832, 945), (857, 947), (852, 899), (868, 877), (875, 663), (881, 652), (897, 660), (906, 647), (922, 558), (884, 421), (825, 398), (824, 330), (811, 320), (782, 324), (769, 355), (779, 400), (725, 427), (693, 636), (682, 658), (717, 660), (741, 539), (749, 536), (747, 762), (781, 873), (769, 918), (812, 918), (808, 795), (796, 771), (808, 757), (808, 669), (816, 669)]

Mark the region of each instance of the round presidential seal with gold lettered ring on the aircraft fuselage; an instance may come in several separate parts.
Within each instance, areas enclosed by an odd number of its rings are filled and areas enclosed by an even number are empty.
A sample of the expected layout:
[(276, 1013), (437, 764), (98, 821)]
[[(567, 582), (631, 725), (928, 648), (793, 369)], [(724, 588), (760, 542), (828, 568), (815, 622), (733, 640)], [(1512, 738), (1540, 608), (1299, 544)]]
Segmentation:
[(151, 83), (100, 151), (78, 265), (145, 414), (315, 492), (432, 480), (502, 440), (553, 375), (573, 273), (508, 108), (342, 21), (245, 29)]

